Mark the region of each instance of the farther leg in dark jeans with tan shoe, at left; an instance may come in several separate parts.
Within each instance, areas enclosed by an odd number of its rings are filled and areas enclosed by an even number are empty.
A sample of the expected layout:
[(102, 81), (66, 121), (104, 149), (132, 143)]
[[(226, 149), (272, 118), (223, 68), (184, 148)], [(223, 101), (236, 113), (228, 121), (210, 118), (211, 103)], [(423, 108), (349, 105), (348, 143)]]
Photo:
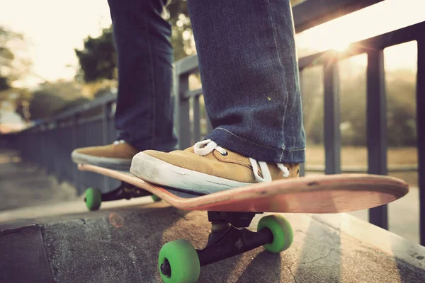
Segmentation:
[(77, 149), (72, 159), (129, 169), (139, 151), (171, 151), (177, 139), (171, 103), (171, 26), (162, 18), (165, 0), (108, 0), (118, 53), (118, 141)]

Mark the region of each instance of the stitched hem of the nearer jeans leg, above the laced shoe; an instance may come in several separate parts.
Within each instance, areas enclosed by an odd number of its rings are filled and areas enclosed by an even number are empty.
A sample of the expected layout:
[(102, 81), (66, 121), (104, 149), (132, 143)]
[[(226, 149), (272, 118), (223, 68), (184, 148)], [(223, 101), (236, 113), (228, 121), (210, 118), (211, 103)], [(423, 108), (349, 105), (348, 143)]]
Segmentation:
[(273, 149), (238, 137), (227, 129), (216, 128), (205, 139), (212, 139), (219, 146), (257, 161), (273, 163), (304, 163), (305, 149)]

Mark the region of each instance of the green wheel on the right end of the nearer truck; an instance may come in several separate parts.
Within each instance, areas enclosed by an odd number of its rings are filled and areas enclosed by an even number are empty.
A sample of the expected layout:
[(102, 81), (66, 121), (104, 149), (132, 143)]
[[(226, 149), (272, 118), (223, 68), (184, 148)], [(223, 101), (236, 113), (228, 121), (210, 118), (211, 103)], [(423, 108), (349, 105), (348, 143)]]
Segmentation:
[(280, 253), (290, 247), (294, 234), (289, 221), (280, 215), (268, 215), (260, 219), (257, 230), (270, 229), (273, 233), (273, 242), (263, 247), (271, 253)]

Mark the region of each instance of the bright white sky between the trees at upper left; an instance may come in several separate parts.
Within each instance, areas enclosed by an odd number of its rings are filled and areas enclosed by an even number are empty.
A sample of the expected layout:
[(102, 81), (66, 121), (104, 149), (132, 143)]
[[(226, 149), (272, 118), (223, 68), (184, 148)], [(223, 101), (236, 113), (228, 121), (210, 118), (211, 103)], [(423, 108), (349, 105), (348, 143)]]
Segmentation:
[(0, 0), (0, 25), (25, 36), (36, 75), (25, 82), (31, 85), (40, 78), (72, 79), (78, 66), (74, 49), (109, 27), (111, 16), (107, 0)]

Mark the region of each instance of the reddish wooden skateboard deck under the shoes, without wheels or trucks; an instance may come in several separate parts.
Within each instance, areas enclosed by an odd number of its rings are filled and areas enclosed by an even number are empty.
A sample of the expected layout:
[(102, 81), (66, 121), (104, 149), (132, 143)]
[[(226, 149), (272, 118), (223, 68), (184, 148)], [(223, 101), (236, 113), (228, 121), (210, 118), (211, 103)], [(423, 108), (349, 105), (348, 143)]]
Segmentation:
[(147, 190), (173, 207), (214, 212), (339, 213), (370, 209), (409, 192), (403, 180), (382, 175), (314, 175), (271, 183), (256, 183), (209, 195), (159, 187), (130, 172), (79, 164), (91, 171)]

